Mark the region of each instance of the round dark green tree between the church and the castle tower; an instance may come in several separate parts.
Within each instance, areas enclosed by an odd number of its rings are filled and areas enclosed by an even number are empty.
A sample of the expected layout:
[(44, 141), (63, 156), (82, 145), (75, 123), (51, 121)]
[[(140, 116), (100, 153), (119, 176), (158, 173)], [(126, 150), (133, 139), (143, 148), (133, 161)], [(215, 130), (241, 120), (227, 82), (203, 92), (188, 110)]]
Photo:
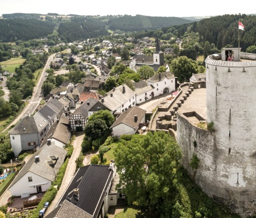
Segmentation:
[(171, 62), (171, 71), (174, 76), (178, 77), (178, 81), (182, 83), (188, 81), (192, 73), (198, 73), (198, 64), (186, 56), (181, 56)]

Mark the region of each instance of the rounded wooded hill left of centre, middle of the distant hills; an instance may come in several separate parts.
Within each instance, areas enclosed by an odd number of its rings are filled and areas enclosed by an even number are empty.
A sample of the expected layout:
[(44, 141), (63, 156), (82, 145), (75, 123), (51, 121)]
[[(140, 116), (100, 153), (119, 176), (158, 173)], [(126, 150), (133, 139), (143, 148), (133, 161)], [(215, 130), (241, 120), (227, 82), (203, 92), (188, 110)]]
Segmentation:
[(96, 19), (75, 18), (59, 25), (59, 36), (67, 41), (84, 40), (107, 35), (105, 23)]

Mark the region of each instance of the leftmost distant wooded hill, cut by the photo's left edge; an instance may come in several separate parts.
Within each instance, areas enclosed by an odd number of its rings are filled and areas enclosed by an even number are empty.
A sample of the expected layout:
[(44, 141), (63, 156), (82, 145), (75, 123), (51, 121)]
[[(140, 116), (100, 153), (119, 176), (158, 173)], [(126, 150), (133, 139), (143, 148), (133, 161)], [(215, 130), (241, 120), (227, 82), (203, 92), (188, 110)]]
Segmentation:
[(0, 20), (0, 41), (27, 41), (46, 37), (53, 32), (54, 24), (37, 19)]

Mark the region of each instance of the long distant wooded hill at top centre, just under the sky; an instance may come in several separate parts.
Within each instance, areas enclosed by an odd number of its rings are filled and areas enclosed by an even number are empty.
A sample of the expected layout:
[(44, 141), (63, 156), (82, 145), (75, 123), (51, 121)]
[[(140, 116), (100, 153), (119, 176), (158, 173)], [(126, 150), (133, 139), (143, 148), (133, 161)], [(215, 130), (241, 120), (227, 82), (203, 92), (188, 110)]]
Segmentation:
[(144, 15), (124, 15), (112, 17), (108, 20), (110, 30), (140, 31), (155, 30), (166, 26), (192, 23), (192, 20), (185, 20), (179, 17), (151, 17)]

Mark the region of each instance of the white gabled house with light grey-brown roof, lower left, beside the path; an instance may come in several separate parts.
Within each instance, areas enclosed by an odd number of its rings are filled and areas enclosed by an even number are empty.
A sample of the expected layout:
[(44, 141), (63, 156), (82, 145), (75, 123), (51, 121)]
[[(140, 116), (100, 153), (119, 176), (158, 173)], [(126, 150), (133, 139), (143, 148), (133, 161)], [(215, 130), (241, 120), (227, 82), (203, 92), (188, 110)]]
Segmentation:
[(58, 174), (67, 151), (54, 143), (43, 145), (17, 174), (10, 185), (11, 196), (27, 198), (46, 192)]

